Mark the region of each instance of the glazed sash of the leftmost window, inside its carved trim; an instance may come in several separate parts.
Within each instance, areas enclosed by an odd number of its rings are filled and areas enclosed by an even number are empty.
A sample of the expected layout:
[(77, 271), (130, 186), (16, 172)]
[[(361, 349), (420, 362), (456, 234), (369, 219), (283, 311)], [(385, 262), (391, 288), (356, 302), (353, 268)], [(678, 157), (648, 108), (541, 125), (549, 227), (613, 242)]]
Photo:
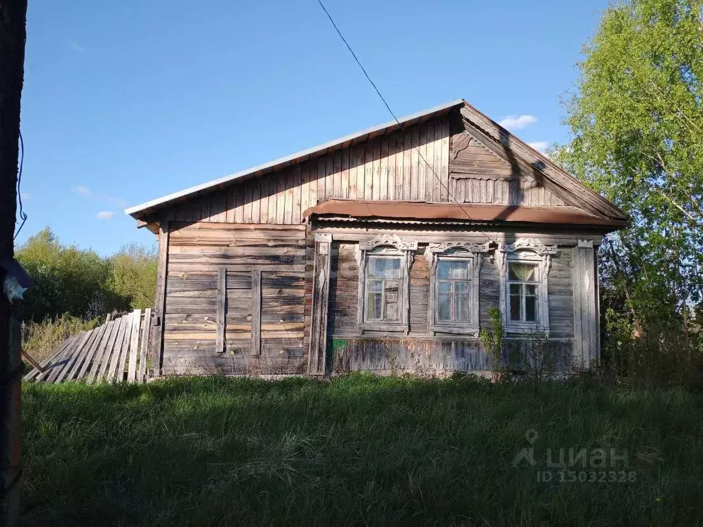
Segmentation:
[(403, 285), (401, 258), (368, 256), (366, 263), (366, 311), (364, 320), (398, 322)]

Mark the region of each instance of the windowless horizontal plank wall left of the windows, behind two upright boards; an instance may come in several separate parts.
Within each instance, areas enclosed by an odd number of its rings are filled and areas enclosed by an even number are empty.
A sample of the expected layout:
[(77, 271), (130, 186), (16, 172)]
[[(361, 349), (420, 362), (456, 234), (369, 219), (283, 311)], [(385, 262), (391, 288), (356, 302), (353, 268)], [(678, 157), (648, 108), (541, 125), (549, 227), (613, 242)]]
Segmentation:
[[(306, 251), (303, 226), (172, 223), (164, 374), (304, 372)], [(216, 351), (220, 269), (226, 269), (224, 353)], [(252, 310), (259, 305), (252, 271), (261, 272), (260, 355), (252, 341)]]

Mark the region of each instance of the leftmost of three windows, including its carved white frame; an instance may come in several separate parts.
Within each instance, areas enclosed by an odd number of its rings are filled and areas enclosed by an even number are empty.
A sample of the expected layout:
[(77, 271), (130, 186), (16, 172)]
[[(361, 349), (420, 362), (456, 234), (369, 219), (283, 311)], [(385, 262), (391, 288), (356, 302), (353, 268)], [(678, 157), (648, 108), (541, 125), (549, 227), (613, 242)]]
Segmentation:
[(357, 324), (360, 332), (397, 332), (407, 334), (410, 311), (408, 268), (418, 242), (397, 235), (380, 235), (359, 242), (359, 304)]

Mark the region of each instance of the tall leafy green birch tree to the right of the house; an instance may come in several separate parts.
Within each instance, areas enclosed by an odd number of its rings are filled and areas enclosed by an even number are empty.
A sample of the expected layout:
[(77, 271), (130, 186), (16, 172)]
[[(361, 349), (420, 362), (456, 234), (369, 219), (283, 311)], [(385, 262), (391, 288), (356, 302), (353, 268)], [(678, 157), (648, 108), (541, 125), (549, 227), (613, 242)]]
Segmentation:
[(631, 219), (604, 245), (605, 306), (642, 331), (662, 320), (688, 330), (702, 297), (702, 3), (608, 8), (565, 102), (573, 138), (557, 161)]

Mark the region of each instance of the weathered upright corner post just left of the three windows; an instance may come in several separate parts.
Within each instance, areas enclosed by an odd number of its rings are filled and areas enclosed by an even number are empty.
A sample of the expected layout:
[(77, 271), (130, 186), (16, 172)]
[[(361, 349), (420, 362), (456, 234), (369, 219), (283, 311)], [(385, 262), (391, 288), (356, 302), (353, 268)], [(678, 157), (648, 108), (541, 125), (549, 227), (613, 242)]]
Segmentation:
[(325, 375), (332, 235), (315, 235), (308, 375)]

